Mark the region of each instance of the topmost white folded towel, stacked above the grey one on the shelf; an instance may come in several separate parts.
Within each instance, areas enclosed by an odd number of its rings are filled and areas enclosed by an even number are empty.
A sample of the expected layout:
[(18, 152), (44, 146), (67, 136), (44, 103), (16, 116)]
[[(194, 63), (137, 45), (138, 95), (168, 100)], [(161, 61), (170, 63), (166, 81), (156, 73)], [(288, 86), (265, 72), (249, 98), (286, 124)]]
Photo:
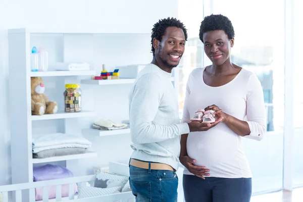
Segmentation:
[(51, 133), (33, 135), (32, 147), (53, 146), (59, 144), (84, 144), (91, 145), (91, 142), (80, 135), (66, 134), (66, 133)]

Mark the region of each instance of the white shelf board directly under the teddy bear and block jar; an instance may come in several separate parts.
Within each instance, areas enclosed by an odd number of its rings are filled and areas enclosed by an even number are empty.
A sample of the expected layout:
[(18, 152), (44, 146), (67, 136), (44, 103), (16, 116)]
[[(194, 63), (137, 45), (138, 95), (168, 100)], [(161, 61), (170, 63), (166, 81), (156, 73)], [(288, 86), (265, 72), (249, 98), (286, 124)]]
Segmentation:
[(32, 121), (38, 120), (51, 120), (51, 119), (68, 119), (68, 118), (79, 118), (79, 117), (93, 117), (96, 116), (94, 111), (81, 111), (81, 112), (57, 112), (57, 114), (44, 114), (42, 116), (32, 115)]

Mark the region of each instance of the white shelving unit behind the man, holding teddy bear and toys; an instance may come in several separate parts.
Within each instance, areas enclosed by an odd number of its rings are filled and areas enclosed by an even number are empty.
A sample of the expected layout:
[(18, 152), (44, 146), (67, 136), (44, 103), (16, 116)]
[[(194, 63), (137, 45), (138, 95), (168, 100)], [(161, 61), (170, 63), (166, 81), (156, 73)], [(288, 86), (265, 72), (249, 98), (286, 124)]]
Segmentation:
[[(130, 134), (129, 128), (113, 131), (87, 129), (87, 127), (85, 127), (87, 124), (85, 125), (84, 122), (95, 116), (113, 120), (117, 119), (117, 121), (129, 119), (128, 104), (125, 100), (127, 92), (130, 90), (131, 84), (135, 79), (91, 80), (90, 76), (98, 75), (100, 70), (102, 70), (102, 64), (106, 64), (107, 67), (115, 67), (149, 63), (152, 58), (150, 54), (150, 33), (121, 33), (121, 30), (115, 33), (109, 30), (98, 29), (14, 29), (8, 31), (8, 38), (10, 65), (9, 114), (13, 184), (32, 182), (33, 165), (40, 163), (65, 161), (66, 167), (69, 169), (74, 168), (75, 170), (73, 171), (77, 171), (77, 169), (82, 170), (83, 173), (83, 171), (87, 171), (84, 168), (91, 159), (92, 161), (96, 160), (106, 163), (113, 161), (110, 155), (110, 149), (116, 148), (116, 140), (120, 140), (122, 143), (120, 142), (118, 146), (120, 149), (115, 149), (115, 154), (119, 156), (124, 155), (126, 158), (129, 158), (126, 151), (124, 151), (123, 154), (118, 153), (119, 150), (130, 149), (129, 142), (126, 142), (130, 141), (130, 138), (127, 137), (127, 134)], [(46, 47), (45, 49), (48, 50), (49, 63), (87, 62), (92, 64), (92, 70), (54, 71), (49, 69), (47, 72), (31, 72), (31, 48), (32, 46), (40, 45)], [(121, 46), (123, 47), (121, 48)], [(127, 52), (125, 52), (126, 49)], [(43, 80), (45, 79), (44, 83), (47, 82), (45, 85), (45, 94), (51, 94), (48, 98), (57, 101), (59, 106), (58, 113), (43, 116), (31, 115), (30, 78), (36, 76), (42, 77)], [(176, 81), (178, 81), (178, 71), (173, 72), (172, 78), (175, 90), (178, 92), (178, 82)], [(83, 94), (85, 94), (87, 98), (85, 102), (88, 102), (88, 104), (85, 105), (86, 108), (82, 108), (83, 111), (77, 113), (63, 112), (64, 108), (62, 105), (65, 83), (81, 84)], [(82, 103), (82, 106), (84, 106), (83, 104), (85, 104), (85, 102)], [(33, 159), (32, 134), (43, 131), (44, 126), (46, 128), (45, 130), (47, 130), (51, 128), (52, 124), (58, 125), (55, 131), (60, 129), (66, 133), (77, 132), (92, 137), (92, 150), (94, 151), (88, 151), (85, 154), (79, 155)], [(83, 124), (85, 126), (83, 126)], [(90, 127), (91, 125), (92, 123)], [(102, 138), (109, 136), (113, 138)], [(117, 139), (113, 140), (116, 136)], [(104, 142), (104, 139), (111, 139), (115, 142), (111, 144)], [(97, 140), (100, 140), (100, 142), (95, 142)], [(124, 147), (121, 148), (121, 145)], [(107, 155), (104, 155), (106, 152)], [(78, 161), (80, 160), (86, 163), (79, 163)], [(100, 164), (100, 162), (98, 163)], [(23, 194), (23, 197), (24, 201), (28, 201), (29, 197), (34, 196), (32, 193), (26, 193)]]

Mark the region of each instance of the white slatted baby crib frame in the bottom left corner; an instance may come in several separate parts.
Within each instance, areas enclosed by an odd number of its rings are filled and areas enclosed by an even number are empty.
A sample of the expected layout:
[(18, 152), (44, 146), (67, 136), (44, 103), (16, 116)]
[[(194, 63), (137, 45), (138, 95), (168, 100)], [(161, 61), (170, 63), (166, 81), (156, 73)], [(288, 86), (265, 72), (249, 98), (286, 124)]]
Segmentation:
[[(117, 167), (118, 165), (118, 167)], [(125, 170), (119, 169), (119, 164), (112, 163), (109, 167), (109, 172), (112, 174), (125, 175)], [(56, 180), (46, 180), (38, 182), (20, 183), (0, 186), (0, 192), (2, 192), (3, 202), (35, 202), (35, 188), (43, 188), (43, 202), (47, 201), (68, 201), (68, 202), (134, 202), (135, 198), (131, 191), (113, 193), (109, 195), (92, 196), (85, 198), (77, 198), (77, 194), (74, 194), (74, 184), (78, 184), (78, 188), (87, 186), (88, 182), (93, 182), (96, 175), (87, 175), (81, 177), (63, 178)], [(61, 186), (64, 184), (69, 185), (69, 196), (62, 197)], [(56, 186), (56, 198), (48, 199), (48, 187)], [(12, 197), (10, 197), (12, 196)], [(0, 198), (1, 201), (1, 198)], [(36, 201), (37, 202), (37, 201)]]

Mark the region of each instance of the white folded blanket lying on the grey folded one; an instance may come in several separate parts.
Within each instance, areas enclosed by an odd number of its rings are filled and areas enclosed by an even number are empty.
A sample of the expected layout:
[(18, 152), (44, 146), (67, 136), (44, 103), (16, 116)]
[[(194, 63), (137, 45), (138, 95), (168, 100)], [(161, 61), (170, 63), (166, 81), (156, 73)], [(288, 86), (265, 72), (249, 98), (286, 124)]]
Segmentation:
[[(79, 146), (77, 146), (79, 145)], [(65, 134), (65, 133), (51, 133), (33, 135), (32, 148), (34, 153), (41, 150), (64, 148), (64, 147), (81, 147), (88, 148), (91, 142), (80, 135)], [(42, 149), (41, 149), (42, 148)]]

